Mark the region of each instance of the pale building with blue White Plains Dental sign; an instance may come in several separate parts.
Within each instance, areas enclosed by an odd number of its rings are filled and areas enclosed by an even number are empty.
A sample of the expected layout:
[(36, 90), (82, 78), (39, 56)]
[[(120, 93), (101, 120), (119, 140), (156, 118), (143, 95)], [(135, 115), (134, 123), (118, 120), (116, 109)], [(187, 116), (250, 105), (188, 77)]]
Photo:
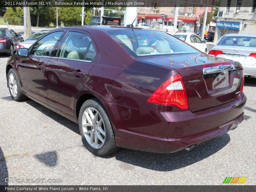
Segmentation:
[[(248, 7), (251, 5), (251, 7)], [(247, 6), (247, 7), (246, 7)], [(256, 0), (226, 0), (220, 2), (214, 42), (229, 33), (256, 34)]]

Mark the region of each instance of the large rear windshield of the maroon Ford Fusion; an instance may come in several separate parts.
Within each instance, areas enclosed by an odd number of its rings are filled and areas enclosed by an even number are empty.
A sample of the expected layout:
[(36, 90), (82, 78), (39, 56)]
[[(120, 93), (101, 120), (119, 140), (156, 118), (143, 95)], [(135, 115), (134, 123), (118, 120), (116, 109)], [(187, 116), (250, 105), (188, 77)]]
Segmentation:
[(164, 32), (135, 29), (109, 31), (108, 34), (135, 57), (198, 53), (191, 46)]

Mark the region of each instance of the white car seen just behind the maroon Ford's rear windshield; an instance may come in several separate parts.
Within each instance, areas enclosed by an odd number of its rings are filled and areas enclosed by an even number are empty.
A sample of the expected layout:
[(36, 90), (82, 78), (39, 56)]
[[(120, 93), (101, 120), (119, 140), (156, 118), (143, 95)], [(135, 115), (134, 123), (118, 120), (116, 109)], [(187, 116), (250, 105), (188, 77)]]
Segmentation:
[(179, 38), (182, 41), (185, 41), (187, 44), (195, 47), (196, 49), (200, 50), (201, 52), (207, 53), (207, 46), (206, 41), (201, 40), (199, 36), (194, 33), (176, 33), (173, 36)]

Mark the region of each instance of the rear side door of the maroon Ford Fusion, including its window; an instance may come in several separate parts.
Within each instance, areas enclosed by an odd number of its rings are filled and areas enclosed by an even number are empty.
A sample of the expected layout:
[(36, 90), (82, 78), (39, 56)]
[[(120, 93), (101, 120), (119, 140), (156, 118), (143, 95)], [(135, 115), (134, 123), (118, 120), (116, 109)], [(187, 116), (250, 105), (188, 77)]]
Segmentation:
[(89, 34), (80, 30), (68, 31), (57, 49), (45, 68), (48, 103), (74, 116), (76, 95), (96, 62), (97, 49)]

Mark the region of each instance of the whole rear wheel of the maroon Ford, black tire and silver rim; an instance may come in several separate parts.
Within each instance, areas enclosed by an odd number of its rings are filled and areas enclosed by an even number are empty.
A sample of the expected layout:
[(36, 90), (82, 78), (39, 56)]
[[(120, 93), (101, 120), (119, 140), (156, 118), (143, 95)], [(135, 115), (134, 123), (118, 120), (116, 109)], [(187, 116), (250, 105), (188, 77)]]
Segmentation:
[(106, 156), (118, 149), (110, 118), (99, 100), (90, 99), (84, 102), (78, 123), (82, 142), (91, 153)]

